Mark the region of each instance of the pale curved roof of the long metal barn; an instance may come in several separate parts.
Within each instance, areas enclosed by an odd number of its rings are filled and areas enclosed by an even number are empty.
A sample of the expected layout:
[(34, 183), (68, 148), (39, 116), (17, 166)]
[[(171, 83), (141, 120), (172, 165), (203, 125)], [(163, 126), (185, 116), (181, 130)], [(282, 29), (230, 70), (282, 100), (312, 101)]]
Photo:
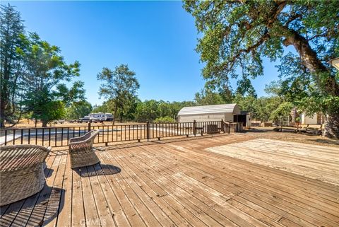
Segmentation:
[(199, 105), (184, 107), (179, 111), (178, 115), (201, 115), (201, 114), (211, 114), (211, 113), (227, 113), (232, 112), (234, 114), (239, 114), (240, 110), (237, 104), (222, 104), (222, 105)]

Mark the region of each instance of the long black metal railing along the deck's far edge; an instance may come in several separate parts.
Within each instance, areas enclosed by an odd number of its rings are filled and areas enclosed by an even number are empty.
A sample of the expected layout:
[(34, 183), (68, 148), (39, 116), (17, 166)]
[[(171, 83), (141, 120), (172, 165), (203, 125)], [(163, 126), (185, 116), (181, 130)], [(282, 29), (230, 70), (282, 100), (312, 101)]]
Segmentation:
[(210, 133), (230, 133), (230, 124), (223, 121), (91, 125), (77, 127), (39, 127), (0, 129), (0, 145), (36, 144), (42, 146), (68, 146), (69, 139), (99, 129), (95, 144), (119, 141), (141, 141), (172, 136), (196, 136)]

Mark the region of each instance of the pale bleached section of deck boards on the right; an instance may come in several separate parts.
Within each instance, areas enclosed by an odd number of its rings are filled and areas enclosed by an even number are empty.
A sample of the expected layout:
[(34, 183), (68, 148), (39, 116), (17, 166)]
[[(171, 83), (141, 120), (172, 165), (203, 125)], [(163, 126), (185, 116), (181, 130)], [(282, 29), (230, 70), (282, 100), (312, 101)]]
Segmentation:
[(339, 148), (253, 139), (207, 150), (339, 185)]

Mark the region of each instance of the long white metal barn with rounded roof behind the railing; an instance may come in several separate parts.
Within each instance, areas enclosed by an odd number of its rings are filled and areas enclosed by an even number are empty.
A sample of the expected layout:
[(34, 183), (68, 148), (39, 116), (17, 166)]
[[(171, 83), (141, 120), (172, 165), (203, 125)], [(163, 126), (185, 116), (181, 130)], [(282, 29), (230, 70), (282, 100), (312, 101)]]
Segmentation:
[(233, 116), (240, 115), (239, 106), (235, 103), (222, 105), (200, 105), (184, 107), (178, 113), (179, 122), (231, 121)]

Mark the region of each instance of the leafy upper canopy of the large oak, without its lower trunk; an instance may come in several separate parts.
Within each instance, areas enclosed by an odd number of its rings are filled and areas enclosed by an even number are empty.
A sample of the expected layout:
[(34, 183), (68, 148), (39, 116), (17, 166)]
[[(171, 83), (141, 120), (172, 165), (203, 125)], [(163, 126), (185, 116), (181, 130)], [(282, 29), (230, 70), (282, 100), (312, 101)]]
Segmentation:
[(283, 45), (294, 45), (295, 34), (326, 64), (338, 55), (338, 6), (338, 1), (184, 2), (203, 33), (196, 48), (206, 62), (203, 76), (220, 86), (237, 78), (239, 68), (243, 78), (262, 75), (261, 57), (282, 57)]

